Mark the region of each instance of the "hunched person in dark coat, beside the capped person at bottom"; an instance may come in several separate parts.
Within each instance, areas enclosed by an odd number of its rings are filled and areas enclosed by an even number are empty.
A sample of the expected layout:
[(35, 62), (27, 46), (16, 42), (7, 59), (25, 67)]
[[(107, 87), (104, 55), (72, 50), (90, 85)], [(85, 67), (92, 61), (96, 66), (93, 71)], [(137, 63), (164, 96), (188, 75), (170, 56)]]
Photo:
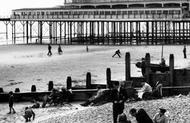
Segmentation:
[(152, 119), (148, 116), (144, 109), (139, 109), (138, 112), (135, 108), (132, 108), (129, 113), (135, 117), (137, 123), (153, 123)]

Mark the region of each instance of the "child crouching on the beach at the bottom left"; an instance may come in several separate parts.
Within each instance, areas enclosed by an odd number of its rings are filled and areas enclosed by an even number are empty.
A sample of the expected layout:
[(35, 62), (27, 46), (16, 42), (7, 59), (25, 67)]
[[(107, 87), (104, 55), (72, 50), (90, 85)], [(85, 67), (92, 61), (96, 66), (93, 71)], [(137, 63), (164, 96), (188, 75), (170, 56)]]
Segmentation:
[(26, 122), (31, 121), (32, 117), (33, 117), (33, 120), (35, 119), (35, 113), (33, 112), (33, 110), (31, 108), (26, 107), (24, 113), (25, 113), (24, 118), (25, 118)]

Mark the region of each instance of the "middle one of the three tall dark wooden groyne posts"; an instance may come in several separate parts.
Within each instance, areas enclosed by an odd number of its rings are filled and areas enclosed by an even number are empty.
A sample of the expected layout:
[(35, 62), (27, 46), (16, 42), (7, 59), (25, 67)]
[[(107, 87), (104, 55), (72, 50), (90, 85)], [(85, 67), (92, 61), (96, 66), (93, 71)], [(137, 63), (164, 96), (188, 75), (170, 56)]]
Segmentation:
[(146, 53), (146, 56), (145, 56), (145, 65), (146, 65), (146, 69), (145, 69), (146, 82), (150, 83), (150, 80), (149, 80), (149, 74), (150, 74), (150, 54), (149, 53)]

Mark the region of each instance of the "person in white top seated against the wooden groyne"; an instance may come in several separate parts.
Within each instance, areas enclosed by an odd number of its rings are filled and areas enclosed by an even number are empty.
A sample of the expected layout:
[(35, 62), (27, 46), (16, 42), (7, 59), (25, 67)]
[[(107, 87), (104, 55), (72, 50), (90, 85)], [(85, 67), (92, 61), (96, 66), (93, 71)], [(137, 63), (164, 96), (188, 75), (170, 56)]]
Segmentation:
[(147, 99), (152, 94), (152, 87), (146, 82), (142, 82), (141, 85), (142, 88), (138, 90), (138, 97), (140, 99)]

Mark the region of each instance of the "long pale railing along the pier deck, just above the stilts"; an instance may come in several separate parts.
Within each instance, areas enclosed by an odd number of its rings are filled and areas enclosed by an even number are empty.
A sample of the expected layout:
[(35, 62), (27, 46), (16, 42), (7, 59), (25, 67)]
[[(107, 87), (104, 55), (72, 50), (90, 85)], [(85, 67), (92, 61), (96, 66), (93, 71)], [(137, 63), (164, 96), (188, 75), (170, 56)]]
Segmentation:
[(166, 14), (141, 14), (141, 13), (118, 13), (112, 14), (70, 14), (70, 15), (14, 15), (11, 17), (12, 20), (175, 20), (182, 19), (180, 13), (166, 13)]

